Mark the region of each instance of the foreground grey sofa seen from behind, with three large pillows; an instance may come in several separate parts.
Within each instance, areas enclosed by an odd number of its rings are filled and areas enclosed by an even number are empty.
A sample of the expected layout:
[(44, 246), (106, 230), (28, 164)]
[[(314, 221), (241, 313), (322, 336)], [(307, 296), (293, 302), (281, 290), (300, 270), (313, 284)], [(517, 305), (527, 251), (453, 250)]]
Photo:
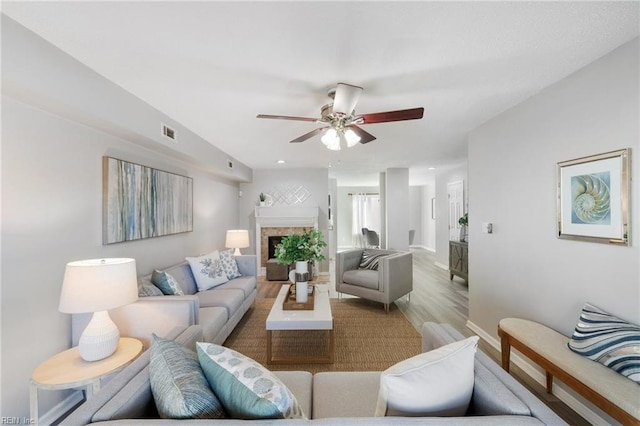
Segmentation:
[[(195, 348), (202, 339), (198, 326), (172, 330), (167, 338)], [(425, 323), (423, 350), (463, 340), (447, 324)], [(151, 351), (116, 375), (97, 395), (82, 404), (61, 425), (176, 424), (159, 419), (149, 378)], [(565, 425), (566, 423), (524, 386), (478, 351), (475, 354), (471, 403), (464, 417), (374, 417), (379, 371), (327, 372), (278, 371), (274, 374), (293, 393), (309, 420), (180, 420), (181, 425), (220, 424), (323, 424), (323, 425)]]

